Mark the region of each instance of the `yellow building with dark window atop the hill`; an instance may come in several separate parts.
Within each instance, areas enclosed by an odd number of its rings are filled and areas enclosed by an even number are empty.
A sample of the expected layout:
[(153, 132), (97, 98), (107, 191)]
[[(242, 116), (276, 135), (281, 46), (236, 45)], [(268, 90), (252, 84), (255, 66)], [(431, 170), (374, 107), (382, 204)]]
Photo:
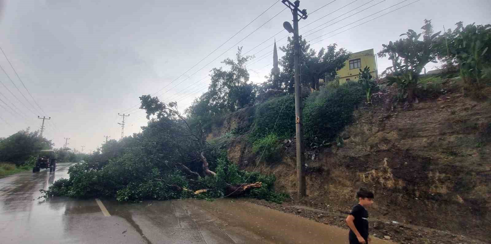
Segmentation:
[(365, 66), (370, 68), (370, 73), (374, 78), (377, 77), (377, 60), (375, 58), (373, 49), (352, 53), (350, 58), (346, 60), (343, 69), (337, 72), (339, 83), (345, 83), (347, 80), (358, 80), (360, 69), (363, 70)]

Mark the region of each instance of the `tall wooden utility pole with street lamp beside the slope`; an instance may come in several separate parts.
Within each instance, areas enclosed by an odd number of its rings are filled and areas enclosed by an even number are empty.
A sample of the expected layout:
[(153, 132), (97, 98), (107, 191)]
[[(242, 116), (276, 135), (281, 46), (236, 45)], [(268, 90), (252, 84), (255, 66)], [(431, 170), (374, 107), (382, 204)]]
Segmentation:
[(292, 3), (289, 0), (281, 0), (293, 14), (293, 28), (290, 22), (284, 22), (283, 27), (290, 33), (293, 32), (294, 40), (294, 73), (295, 73), (295, 130), (297, 136), (297, 194), (300, 200), (306, 195), (305, 186), (305, 164), (303, 155), (303, 130), (302, 130), (302, 98), (300, 94), (300, 43), (299, 43), (299, 21), (300, 19), (307, 19), (307, 10), (299, 9), (300, 0), (296, 0)]

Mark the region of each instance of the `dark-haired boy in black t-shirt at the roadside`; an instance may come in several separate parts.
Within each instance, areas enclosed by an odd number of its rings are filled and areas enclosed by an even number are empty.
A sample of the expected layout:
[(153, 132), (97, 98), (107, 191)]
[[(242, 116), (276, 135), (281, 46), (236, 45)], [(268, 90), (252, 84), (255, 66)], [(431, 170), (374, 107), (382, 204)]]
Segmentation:
[(350, 227), (348, 239), (350, 244), (368, 244), (368, 241), (371, 240), (368, 237), (368, 211), (365, 208), (373, 204), (374, 195), (372, 192), (360, 188), (356, 197), (359, 202), (346, 218), (346, 223)]

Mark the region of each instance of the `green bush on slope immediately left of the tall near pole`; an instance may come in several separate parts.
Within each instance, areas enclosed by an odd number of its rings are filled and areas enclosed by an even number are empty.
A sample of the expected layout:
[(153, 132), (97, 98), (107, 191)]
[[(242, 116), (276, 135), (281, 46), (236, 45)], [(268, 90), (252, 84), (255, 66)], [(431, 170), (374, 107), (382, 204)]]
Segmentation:
[(273, 128), (279, 139), (292, 136), (295, 134), (295, 97), (287, 95), (256, 105), (254, 123), (254, 130), (249, 132), (251, 142), (266, 137)]

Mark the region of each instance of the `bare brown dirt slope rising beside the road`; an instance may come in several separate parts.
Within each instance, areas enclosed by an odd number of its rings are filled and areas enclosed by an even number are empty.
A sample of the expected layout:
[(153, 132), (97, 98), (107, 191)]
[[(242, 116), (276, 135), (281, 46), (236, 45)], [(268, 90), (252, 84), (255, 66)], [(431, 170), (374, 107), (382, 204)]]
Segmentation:
[[(366, 186), (376, 193), (371, 218), (491, 238), (490, 103), (454, 93), (409, 110), (382, 107), (356, 110), (355, 122), (340, 134), (342, 147), (306, 152), (308, 197), (301, 204), (344, 213), (355, 203), (355, 189)], [(247, 121), (246, 111), (213, 136)], [(275, 174), (277, 190), (295, 195), (295, 142), (284, 143), (281, 160), (257, 167), (250, 147), (246, 135), (232, 138), (230, 159)]]

